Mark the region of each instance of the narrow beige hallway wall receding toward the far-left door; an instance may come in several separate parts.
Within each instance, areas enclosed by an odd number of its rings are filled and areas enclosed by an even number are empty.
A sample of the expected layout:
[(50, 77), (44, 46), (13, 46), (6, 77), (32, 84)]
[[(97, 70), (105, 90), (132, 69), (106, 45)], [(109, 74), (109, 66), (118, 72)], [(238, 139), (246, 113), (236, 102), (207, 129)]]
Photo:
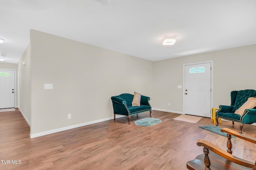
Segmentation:
[[(30, 57), (31, 57), (31, 44), (23, 53), (18, 68), (20, 71), (20, 111), (28, 122), (31, 128), (31, 78), (30, 78)], [(24, 66), (22, 63), (26, 62)]]

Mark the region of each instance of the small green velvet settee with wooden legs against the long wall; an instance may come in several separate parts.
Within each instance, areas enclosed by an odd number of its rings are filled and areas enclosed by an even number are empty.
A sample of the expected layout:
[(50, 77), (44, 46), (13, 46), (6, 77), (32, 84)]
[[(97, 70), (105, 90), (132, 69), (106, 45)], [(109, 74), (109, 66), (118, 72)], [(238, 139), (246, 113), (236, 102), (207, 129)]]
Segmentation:
[(125, 115), (128, 117), (128, 123), (130, 124), (130, 115), (150, 111), (151, 117), (151, 106), (149, 104), (150, 98), (142, 96), (140, 98), (140, 106), (132, 106), (133, 100), (132, 94), (124, 93), (118, 96), (112, 96), (112, 104), (114, 109), (114, 120), (116, 120), (116, 114)]

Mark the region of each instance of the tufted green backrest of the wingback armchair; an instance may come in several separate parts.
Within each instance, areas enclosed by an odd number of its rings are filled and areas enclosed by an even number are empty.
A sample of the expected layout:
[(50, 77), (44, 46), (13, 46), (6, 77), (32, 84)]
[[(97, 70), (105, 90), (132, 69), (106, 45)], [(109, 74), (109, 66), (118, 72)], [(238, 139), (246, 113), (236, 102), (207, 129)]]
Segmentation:
[[(241, 107), (250, 97), (256, 97), (256, 90), (240, 90), (236, 95), (236, 102), (234, 104), (233, 112)], [(256, 108), (256, 107), (254, 107)]]

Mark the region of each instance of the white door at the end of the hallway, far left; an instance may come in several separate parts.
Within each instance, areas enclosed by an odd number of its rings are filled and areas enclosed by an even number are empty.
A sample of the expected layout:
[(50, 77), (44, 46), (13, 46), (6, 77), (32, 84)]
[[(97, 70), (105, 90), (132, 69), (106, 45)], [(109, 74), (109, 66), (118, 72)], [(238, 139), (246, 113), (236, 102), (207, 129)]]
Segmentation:
[(0, 109), (14, 107), (14, 70), (0, 70)]

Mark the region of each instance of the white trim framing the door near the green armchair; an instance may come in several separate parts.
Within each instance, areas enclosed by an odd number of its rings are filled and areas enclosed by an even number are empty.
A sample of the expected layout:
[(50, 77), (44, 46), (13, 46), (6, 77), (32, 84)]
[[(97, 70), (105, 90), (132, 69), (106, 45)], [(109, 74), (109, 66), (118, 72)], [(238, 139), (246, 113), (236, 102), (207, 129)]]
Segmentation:
[(204, 63), (211, 63), (211, 108), (213, 106), (213, 61), (183, 64), (183, 114), (185, 114), (184, 112), (185, 111), (185, 66), (194, 65), (194, 64), (204, 64)]

